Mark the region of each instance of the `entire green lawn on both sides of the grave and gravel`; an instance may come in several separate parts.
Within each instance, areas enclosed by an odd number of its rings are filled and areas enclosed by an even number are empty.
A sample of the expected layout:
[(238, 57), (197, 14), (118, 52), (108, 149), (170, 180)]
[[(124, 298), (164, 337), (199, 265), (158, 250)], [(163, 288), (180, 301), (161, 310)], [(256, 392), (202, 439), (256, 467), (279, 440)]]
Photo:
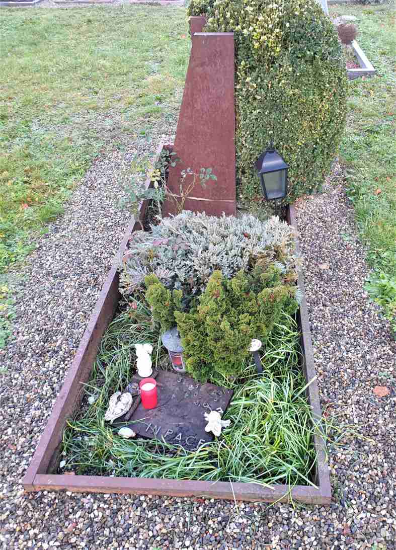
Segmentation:
[[(333, 6), (331, 12), (357, 16), (357, 40), (378, 71), (350, 85), (341, 157), (348, 166), (348, 193), (368, 245), (368, 262), (376, 273), (371, 293), (392, 318), (394, 12), (390, 5)], [(177, 117), (189, 49), (182, 8), (0, 11), (0, 273), (24, 259), (109, 140), (117, 146), (118, 140), (132, 140), (141, 130), (166, 128)], [(10, 296), (7, 284), (0, 283), (1, 326)]]

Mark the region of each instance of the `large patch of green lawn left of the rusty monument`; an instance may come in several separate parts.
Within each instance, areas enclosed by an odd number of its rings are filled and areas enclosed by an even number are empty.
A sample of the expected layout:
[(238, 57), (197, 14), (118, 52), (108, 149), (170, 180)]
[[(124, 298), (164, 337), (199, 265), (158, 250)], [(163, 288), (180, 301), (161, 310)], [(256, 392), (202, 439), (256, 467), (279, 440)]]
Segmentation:
[(0, 10), (0, 349), (16, 268), (105, 147), (177, 119), (185, 10)]

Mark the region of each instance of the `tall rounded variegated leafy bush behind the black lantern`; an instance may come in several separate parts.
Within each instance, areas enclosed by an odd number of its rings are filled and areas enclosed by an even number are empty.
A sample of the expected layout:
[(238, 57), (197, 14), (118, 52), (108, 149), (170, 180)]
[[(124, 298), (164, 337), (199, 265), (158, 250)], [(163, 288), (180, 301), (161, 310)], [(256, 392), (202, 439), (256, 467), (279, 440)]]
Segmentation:
[(345, 124), (347, 80), (337, 31), (316, 0), (191, 0), (208, 32), (234, 32), (237, 175), (260, 194), (254, 162), (273, 141), (290, 165), (287, 202), (329, 171)]

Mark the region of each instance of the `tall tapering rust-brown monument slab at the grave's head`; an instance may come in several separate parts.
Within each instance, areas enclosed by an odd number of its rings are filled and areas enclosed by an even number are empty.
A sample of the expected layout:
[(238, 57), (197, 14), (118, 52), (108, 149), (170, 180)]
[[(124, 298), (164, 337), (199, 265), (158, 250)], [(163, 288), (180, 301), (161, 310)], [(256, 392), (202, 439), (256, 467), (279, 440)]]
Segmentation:
[[(168, 187), (178, 195), (183, 169), (212, 168), (217, 181), (202, 188), (197, 180), (184, 208), (235, 215), (234, 34), (197, 32), (205, 18), (191, 19), (193, 45), (173, 145), (181, 162), (169, 169)], [(164, 204), (168, 213), (174, 213), (172, 201)]]

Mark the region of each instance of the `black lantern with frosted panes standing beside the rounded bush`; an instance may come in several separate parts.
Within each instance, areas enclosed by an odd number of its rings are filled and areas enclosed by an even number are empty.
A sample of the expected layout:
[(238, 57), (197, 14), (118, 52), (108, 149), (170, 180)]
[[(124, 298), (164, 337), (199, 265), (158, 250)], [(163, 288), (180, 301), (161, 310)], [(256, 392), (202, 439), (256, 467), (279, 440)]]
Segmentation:
[(276, 201), (283, 199), (287, 194), (288, 168), (288, 164), (285, 163), (272, 144), (266, 151), (261, 153), (256, 161), (256, 169), (259, 172), (263, 195), (267, 201), (275, 201), (275, 210), (277, 207)]

